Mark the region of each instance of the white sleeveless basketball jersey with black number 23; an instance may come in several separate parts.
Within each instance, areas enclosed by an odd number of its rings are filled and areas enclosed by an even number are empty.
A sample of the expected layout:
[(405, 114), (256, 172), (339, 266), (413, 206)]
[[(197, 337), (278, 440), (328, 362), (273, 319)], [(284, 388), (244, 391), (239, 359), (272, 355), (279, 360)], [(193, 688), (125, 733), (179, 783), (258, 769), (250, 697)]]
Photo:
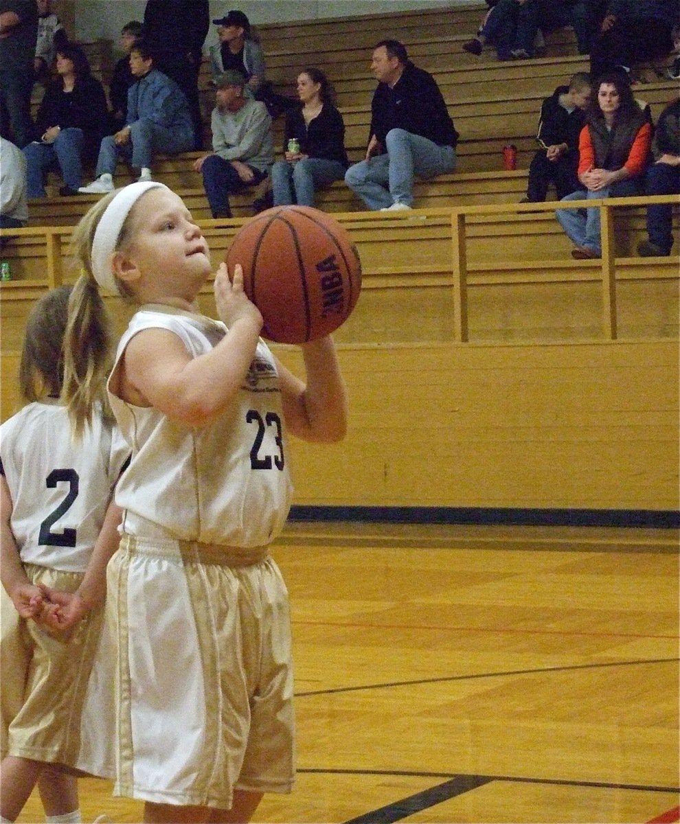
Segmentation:
[(293, 492), (270, 349), (260, 340), (246, 379), (218, 419), (188, 428), (111, 391), (129, 340), (152, 328), (173, 332), (194, 358), (227, 334), (223, 323), (208, 317), (153, 305), (134, 315), (120, 339), (109, 396), (133, 452), (115, 494), (126, 510), (124, 530), (239, 547), (270, 543), (284, 526)]

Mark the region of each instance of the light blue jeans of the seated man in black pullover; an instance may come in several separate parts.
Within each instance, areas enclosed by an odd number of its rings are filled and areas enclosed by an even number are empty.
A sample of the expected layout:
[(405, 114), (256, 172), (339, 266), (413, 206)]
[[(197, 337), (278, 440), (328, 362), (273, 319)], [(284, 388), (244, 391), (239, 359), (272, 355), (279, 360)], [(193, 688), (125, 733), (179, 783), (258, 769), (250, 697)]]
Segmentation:
[(345, 173), (345, 183), (372, 211), (393, 203), (410, 206), (415, 176), (429, 180), (456, 168), (453, 146), (438, 146), (404, 129), (387, 132), (385, 147), (385, 154), (349, 166)]

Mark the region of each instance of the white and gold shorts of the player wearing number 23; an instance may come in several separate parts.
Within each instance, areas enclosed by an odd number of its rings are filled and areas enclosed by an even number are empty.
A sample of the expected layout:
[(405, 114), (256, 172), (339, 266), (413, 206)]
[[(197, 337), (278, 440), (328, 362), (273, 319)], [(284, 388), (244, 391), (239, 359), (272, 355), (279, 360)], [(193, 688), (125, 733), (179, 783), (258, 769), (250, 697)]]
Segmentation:
[(106, 620), (115, 794), (227, 809), (236, 788), (293, 789), (288, 592), (266, 548), (123, 536)]

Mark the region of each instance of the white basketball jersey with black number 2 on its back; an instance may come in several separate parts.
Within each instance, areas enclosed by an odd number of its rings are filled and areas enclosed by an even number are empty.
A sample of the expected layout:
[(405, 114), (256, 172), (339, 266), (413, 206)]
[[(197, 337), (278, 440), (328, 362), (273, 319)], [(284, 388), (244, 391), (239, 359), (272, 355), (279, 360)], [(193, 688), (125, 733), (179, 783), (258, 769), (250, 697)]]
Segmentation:
[(100, 414), (74, 441), (56, 401), (25, 406), (2, 424), (0, 439), (21, 560), (85, 572), (129, 448)]

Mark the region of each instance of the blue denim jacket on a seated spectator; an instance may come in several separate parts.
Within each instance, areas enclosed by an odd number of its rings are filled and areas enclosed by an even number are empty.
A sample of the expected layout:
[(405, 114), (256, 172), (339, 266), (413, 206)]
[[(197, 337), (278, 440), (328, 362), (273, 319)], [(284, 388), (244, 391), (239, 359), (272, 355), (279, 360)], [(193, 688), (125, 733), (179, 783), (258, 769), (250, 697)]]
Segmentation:
[(125, 124), (129, 126), (137, 120), (151, 120), (172, 129), (177, 137), (185, 134), (190, 143), (194, 142), (194, 127), (184, 92), (157, 68), (129, 87)]

